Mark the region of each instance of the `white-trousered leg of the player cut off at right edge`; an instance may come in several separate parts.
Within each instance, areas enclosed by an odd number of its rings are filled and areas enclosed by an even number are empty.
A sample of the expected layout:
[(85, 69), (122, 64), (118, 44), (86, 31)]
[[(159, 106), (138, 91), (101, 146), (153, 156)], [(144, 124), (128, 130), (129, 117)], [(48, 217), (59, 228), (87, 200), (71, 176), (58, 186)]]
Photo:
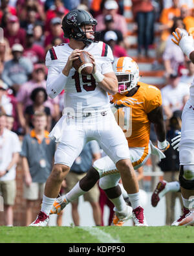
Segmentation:
[(194, 113), (186, 103), (182, 113), (181, 139), (179, 145), (180, 172), (179, 182), (184, 205), (184, 213), (173, 226), (194, 224)]

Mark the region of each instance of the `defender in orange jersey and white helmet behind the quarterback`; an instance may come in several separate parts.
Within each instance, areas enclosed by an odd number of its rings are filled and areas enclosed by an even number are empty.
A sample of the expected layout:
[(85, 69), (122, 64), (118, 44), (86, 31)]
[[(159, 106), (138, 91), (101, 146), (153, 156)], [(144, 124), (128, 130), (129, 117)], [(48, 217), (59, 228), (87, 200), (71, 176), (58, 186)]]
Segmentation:
[[(162, 115), (162, 97), (160, 90), (149, 84), (138, 82), (139, 69), (136, 62), (129, 57), (121, 57), (113, 64), (114, 73), (118, 79), (119, 91), (111, 95), (113, 113), (118, 124), (125, 132), (134, 169), (144, 165), (149, 154), (157, 154), (160, 158), (165, 157), (162, 151), (169, 148), (166, 141), (166, 130)], [(158, 148), (149, 141), (151, 122), (155, 124), (158, 137)], [(94, 162), (93, 169), (80, 181), (85, 191), (91, 189), (96, 183), (94, 179), (96, 171), (99, 174), (100, 187), (106, 192), (109, 199), (115, 205), (113, 224), (122, 226), (127, 220), (125, 213), (125, 201), (118, 182), (120, 173), (109, 156), (104, 156)], [(73, 190), (65, 196), (58, 198), (52, 207), (52, 213), (59, 213), (69, 202), (72, 202), (80, 194)], [(133, 220), (136, 226), (147, 226), (144, 209), (141, 205), (135, 205), (133, 199)], [(131, 198), (129, 198), (131, 201)]]

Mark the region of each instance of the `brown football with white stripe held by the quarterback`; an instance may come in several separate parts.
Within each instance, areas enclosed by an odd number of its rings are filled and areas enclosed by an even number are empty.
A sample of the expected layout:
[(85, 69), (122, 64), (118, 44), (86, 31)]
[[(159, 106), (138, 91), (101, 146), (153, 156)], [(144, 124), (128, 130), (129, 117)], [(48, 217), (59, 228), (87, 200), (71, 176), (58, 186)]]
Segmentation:
[(77, 60), (74, 60), (73, 67), (81, 75), (91, 75), (93, 70), (92, 59), (86, 51), (81, 51)]

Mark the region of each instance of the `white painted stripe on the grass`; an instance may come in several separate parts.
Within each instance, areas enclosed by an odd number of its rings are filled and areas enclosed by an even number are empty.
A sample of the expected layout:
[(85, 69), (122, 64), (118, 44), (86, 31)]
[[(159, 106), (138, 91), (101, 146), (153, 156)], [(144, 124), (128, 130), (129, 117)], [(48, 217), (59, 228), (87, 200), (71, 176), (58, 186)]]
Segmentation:
[(81, 229), (89, 232), (93, 237), (96, 237), (100, 242), (103, 243), (120, 243), (120, 240), (113, 239), (109, 233), (103, 232), (98, 227), (80, 227)]

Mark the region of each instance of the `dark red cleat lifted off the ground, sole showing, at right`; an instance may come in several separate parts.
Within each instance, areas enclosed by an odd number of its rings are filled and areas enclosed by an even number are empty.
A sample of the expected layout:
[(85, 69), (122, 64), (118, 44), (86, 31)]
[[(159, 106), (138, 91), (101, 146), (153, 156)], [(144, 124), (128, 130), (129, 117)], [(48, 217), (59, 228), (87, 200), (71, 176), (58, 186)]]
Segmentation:
[(167, 192), (166, 184), (167, 182), (163, 180), (163, 181), (159, 181), (158, 184), (156, 185), (156, 189), (151, 196), (151, 205), (153, 207), (156, 207), (158, 202), (162, 198), (162, 196), (166, 194)]

